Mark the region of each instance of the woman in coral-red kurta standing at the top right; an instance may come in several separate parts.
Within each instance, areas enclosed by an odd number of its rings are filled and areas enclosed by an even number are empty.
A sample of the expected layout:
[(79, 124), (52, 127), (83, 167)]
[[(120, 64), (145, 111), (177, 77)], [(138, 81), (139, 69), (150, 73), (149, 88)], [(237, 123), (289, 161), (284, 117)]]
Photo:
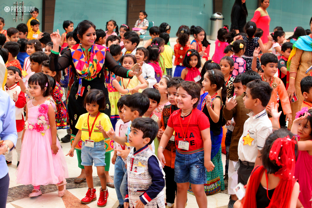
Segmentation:
[(269, 5), (270, 0), (261, 0), (261, 7), (256, 9), (254, 17), (251, 19), (252, 22), (256, 23), (258, 28), (263, 30), (263, 36), (261, 37), (263, 44), (268, 42), (268, 35), (270, 31), (271, 18), (266, 11)]

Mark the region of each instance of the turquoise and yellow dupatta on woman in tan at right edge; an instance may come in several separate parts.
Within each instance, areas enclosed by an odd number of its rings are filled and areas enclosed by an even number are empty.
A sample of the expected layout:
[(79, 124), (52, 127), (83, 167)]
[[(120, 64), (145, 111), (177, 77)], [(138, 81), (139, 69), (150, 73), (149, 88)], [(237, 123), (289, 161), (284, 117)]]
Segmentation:
[(287, 61), (287, 81), (286, 81), (286, 89), (289, 86), (289, 67), (290, 67), (290, 63), (292, 58), (295, 56), (296, 54), (296, 50), (301, 49), (303, 51), (312, 51), (312, 38), (310, 36), (300, 36), (298, 38), (298, 40), (295, 42), (293, 49), (290, 53), (290, 56), (288, 58)]

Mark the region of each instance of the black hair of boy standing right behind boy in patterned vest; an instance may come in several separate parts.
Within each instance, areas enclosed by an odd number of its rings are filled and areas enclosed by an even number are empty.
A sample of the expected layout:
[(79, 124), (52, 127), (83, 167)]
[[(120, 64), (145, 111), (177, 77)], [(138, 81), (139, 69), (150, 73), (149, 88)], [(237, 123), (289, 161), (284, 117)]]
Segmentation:
[(124, 101), (124, 105), (127, 106), (132, 112), (138, 111), (139, 116), (143, 116), (149, 109), (149, 98), (146, 94), (134, 93), (127, 96)]

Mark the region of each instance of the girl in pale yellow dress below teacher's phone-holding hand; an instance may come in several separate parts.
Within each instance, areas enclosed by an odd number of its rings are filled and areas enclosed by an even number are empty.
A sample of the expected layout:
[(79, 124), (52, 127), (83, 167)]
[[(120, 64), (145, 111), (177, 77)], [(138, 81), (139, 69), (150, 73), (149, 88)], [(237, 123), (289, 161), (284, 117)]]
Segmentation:
[[(123, 67), (126, 69), (131, 70), (134, 64), (136, 64), (136, 58), (132, 54), (127, 54), (121, 57), (120, 62)], [(147, 84), (140, 75), (139, 77), (133, 76), (132, 79), (129, 78), (120, 78), (119, 76), (116, 77), (116, 80), (119, 82), (121, 80), (121, 86), (128, 91), (128, 93), (125, 94), (130, 94), (130, 93), (136, 93), (136, 92), (142, 92), (142, 89), (147, 88)], [(139, 82), (142, 83), (139, 85)], [(130, 92), (130, 90), (132, 91)]]

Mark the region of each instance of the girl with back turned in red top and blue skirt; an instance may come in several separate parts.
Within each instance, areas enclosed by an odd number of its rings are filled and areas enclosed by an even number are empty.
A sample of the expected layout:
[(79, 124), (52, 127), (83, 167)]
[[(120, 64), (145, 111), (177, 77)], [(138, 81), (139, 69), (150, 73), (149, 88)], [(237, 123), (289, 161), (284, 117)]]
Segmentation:
[(173, 76), (181, 76), (183, 66), (183, 59), (186, 51), (189, 49), (195, 49), (192, 45), (188, 44), (190, 37), (190, 31), (186, 27), (182, 27), (178, 32), (178, 43), (174, 45), (174, 65), (176, 66)]

